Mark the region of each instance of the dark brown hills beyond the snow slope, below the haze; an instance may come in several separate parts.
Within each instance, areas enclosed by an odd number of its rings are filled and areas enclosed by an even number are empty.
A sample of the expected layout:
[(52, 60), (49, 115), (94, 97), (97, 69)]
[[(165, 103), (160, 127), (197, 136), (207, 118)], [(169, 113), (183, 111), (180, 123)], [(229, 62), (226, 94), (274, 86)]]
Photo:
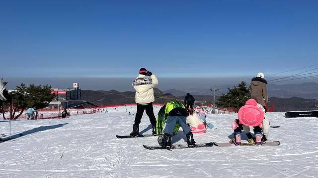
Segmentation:
[[(314, 86), (314, 84), (309, 83), (303, 88), (301, 91), (300, 89), (291, 88), (292, 91), (299, 91), (305, 93), (310, 92), (309, 86)], [(301, 86), (301, 85), (299, 85)], [(288, 87), (288, 86), (285, 86)], [(306, 88), (306, 89), (305, 89)], [(275, 88), (276, 91), (279, 91), (280, 88)], [(282, 88), (286, 91), (285, 88)], [(270, 92), (270, 91), (269, 91)], [(286, 91), (287, 92), (287, 91)], [(297, 92), (297, 93), (299, 93)], [(186, 92), (178, 91), (175, 89), (170, 89), (166, 91), (160, 91), (159, 89), (154, 89), (155, 93), (155, 103), (166, 103), (172, 99), (176, 99), (179, 101), (184, 101), (184, 96)], [(172, 93), (177, 93), (175, 95)], [(207, 105), (213, 102), (212, 95), (196, 95), (191, 93), (196, 101), (205, 102)], [(283, 96), (288, 96), (288, 93), (285, 93)], [(307, 95), (308, 96), (308, 95)], [(216, 100), (220, 97), (215, 96)], [(134, 91), (125, 91), (119, 92), (117, 90), (109, 90), (109, 91), (93, 91), (93, 90), (82, 90), (82, 99), (87, 100), (89, 103), (97, 105), (97, 106), (107, 106), (107, 105), (115, 105), (115, 104), (128, 104), (128, 103), (135, 103), (135, 92)], [(269, 98), (269, 105), (274, 104), (275, 111), (306, 111), (306, 110), (318, 110), (318, 100), (317, 99), (306, 99), (302, 97), (290, 97), (290, 98), (280, 98), (280, 97), (270, 97)]]

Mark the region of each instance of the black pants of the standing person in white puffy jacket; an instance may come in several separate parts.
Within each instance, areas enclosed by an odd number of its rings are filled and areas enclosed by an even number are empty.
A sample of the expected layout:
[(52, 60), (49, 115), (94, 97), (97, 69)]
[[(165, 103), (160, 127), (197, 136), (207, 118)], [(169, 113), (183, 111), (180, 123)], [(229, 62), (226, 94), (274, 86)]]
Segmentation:
[(141, 118), (143, 117), (143, 114), (144, 114), (145, 110), (146, 110), (146, 114), (149, 117), (151, 125), (152, 126), (156, 126), (156, 117), (155, 117), (155, 114), (154, 114), (153, 103), (150, 103), (148, 105), (137, 104), (137, 113), (136, 113), (135, 123), (134, 123), (135, 127), (139, 127), (139, 124), (141, 122)]

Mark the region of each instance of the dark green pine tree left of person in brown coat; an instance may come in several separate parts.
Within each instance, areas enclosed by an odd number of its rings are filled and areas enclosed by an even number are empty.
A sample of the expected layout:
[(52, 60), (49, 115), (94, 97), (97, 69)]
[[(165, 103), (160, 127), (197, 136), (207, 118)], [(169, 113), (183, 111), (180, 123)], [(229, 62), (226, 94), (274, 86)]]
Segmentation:
[(231, 108), (238, 112), (239, 108), (245, 105), (245, 102), (250, 97), (246, 83), (242, 81), (238, 87), (234, 86), (233, 89), (228, 88), (228, 90), (228, 93), (222, 93), (222, 96), (218, 99), (216, 105), (222, 108), (227, 108), (231, 105)]

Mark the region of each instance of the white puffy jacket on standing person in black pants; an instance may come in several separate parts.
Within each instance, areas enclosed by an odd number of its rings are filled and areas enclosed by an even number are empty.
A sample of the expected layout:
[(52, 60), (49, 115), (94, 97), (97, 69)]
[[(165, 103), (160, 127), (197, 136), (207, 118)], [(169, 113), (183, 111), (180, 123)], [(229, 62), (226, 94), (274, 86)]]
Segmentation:
[[(137, 78), (145, 77), (145, 75), (139, 74)], [(154, 87), (156, 87), (159, 83), (155, 74), (151, 75), (150, 78), (153, 80), (152, 84), (134, 86), (134, 89), (136, 90), (136, 103), (147, 104), (155, 101)]]

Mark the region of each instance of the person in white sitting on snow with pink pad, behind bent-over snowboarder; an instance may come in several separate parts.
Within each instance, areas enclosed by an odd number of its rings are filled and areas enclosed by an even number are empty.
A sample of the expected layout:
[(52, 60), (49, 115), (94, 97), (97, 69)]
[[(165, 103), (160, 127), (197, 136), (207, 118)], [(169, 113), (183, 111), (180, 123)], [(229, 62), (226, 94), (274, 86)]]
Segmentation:
[(191, 109), (188, 109), (187, 124), (190, 125), (192, 133), (204, 133), (206, 132), (204, 122), (198, 117), (198, 115)]

